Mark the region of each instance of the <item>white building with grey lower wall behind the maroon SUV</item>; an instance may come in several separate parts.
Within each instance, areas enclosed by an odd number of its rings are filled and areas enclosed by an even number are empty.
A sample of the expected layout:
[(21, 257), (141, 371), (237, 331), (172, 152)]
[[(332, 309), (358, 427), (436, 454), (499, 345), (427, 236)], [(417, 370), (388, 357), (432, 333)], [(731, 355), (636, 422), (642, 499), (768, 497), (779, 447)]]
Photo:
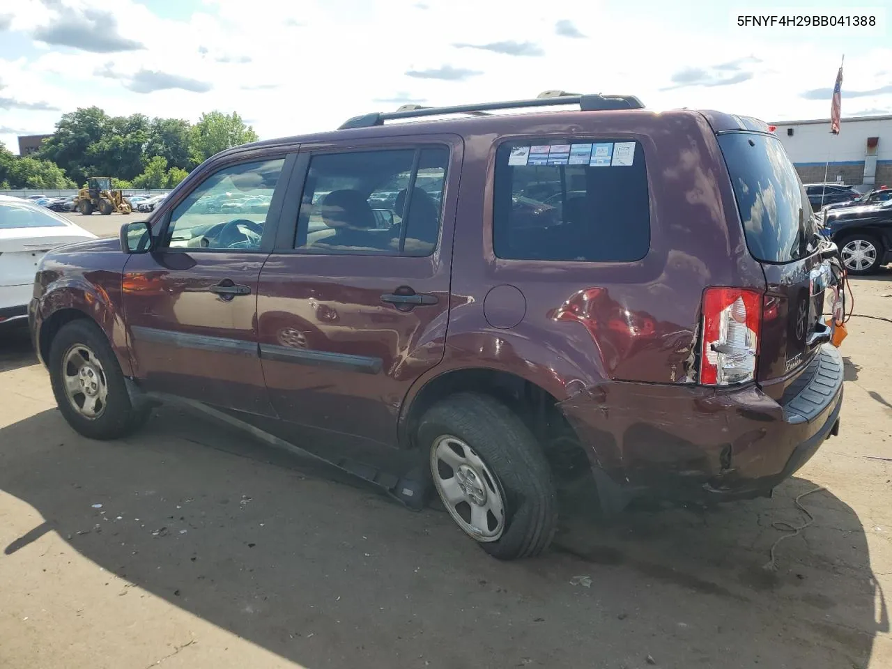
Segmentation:
[(892, 187), (892, 115), (843, 119), (839, 134), (830, 133), (830, 119), (777, 121), (775, 134), (789, 153), (803, 182), (824, 180), (849, 186)]

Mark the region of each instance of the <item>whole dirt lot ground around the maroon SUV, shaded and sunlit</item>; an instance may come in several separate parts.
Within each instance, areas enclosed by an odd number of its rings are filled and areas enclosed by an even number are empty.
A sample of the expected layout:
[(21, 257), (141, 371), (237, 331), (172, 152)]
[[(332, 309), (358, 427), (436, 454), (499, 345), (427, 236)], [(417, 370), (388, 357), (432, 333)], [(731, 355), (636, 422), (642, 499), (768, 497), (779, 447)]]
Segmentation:
[(508, 564), (181, 409), (78, 437), (0, 335), (0, 666), (892, 666), (892, 272), (852, 284), (840, 434), (772, 499), (580, 508)]

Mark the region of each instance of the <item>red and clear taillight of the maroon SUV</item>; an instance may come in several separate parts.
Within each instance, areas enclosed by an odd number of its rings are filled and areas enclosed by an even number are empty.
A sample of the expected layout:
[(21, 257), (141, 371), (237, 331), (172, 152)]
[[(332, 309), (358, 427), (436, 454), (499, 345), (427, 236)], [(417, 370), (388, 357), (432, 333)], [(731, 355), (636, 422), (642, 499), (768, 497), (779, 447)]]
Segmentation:
[(762, 293), (742, 288), (706, 288), (700, 383), (741, 384), (756, 378), (762, 331)]

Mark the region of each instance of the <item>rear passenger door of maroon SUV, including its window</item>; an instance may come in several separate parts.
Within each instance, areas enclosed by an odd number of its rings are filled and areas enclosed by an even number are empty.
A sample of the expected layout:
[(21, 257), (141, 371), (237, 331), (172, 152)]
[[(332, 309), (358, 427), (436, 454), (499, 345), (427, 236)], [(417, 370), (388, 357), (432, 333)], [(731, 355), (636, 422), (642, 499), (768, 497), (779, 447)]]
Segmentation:
[(285, 421), (395, 444), (409, 386), (442, 360), (461, 142), (434, 141), (301, 154), (281, 227), (291, 205), (296, 232), (278, 235), (258, 299)]

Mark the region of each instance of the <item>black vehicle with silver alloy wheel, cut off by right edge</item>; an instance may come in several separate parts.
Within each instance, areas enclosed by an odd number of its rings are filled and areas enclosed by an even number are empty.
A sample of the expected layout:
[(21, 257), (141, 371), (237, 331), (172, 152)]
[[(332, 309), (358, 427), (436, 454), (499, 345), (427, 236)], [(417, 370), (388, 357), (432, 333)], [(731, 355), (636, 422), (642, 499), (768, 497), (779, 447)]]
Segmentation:
[(892, 198), (874, 202), (826, 211), (821, 219), (824, 235), (837, 244), (852, 275), (870, 274), (892, 262)]

